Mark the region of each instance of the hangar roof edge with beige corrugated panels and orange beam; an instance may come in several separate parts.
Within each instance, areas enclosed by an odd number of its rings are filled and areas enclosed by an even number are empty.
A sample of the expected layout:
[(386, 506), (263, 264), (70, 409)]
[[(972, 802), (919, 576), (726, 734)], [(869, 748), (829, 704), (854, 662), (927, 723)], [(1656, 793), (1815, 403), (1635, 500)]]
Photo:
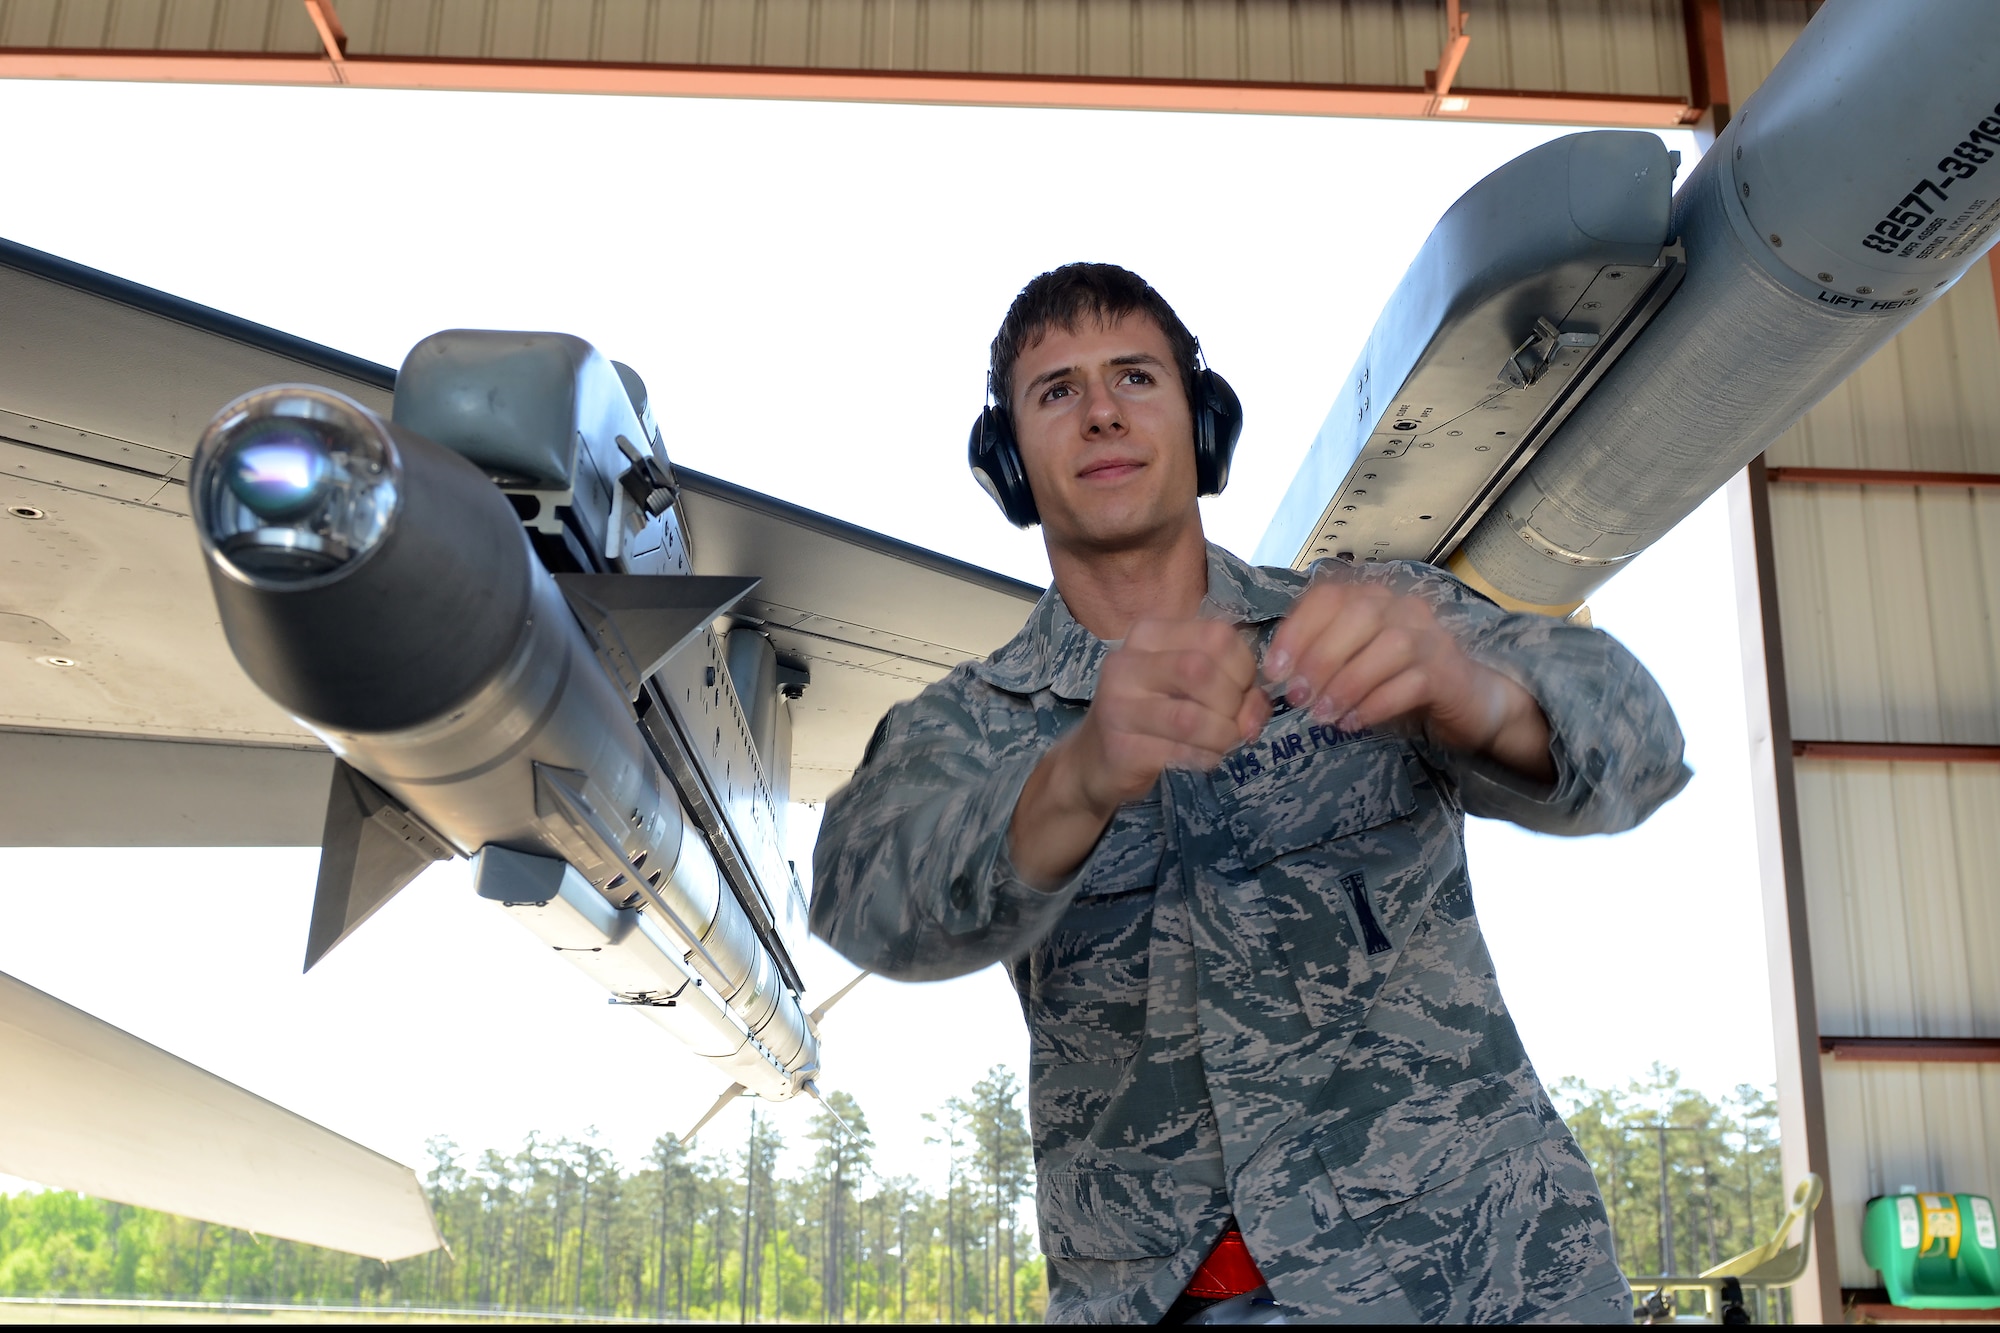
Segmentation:
[[(1806, 0), (14, 0), (0, 78), (1694, 124)], [(1780, 42), (1782, 48), (1782, 42)]]

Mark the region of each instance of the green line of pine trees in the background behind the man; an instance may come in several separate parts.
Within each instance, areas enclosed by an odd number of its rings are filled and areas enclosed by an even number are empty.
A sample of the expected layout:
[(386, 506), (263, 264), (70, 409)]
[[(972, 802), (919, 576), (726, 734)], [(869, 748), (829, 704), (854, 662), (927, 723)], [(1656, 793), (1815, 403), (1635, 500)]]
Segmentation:
[[(1034, 1323), (1046, 1287), (1020, 1091), (994, 1067), (926, 1117), (948, 1163), (942, 1191), (876, 1175), (868, 1117), (846, 1093), (808, 1121), (812, 1157), (794, 1173), (780, 1169), (784, 1133), (764, 1113), (742, 1143), (710, 1139), (700, 1157), (662, 1135), (632, 1169), (594, 1133), (530, 1135), (514, 1153), (434, 1139), (426, 1185), (448, 1249), (388, 1265), (64, 1191), (0, 1197), (0, 1293)], [(1566, 1079), (1556, 1097), (1628, 1273), (1696, 1273), (1762, 1241), (1782, 1215), (1766, 1091), (1710, 1101), (1654, 1067), (1624, 1089)]]

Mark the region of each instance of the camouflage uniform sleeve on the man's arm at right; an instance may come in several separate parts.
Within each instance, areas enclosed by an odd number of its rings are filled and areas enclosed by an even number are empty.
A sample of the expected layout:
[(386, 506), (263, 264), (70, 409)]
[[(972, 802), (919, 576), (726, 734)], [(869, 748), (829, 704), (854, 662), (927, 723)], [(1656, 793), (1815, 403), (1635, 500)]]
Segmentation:
[(1624, 833), (1694, 777), (1660, 683), (1604, 630), (1502, 610), (1430, 564), (1378, 568), (1428, 598), (1472, 660), (1520, 685), (1548, 717), (1554, 787), (1486, 757), (1428, 747), (1458, 781), (1468, 813), (1536, 833)]

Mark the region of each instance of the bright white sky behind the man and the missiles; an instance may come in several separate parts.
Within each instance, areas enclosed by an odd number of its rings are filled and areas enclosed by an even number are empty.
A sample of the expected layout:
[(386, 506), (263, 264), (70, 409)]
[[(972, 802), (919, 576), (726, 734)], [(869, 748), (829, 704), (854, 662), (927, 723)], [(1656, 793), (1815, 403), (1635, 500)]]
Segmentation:
[[(964, 472), (986, 342), (1032, 274), (1150, 278), (1248, 424), (1210, 534), (1248, 554), (1438, 214), (1534, 126), (306, 88), (0, 82), (0, 236), (402, 360), (556, 328), (648, 380), (676, 460), (1046, 582)], [(1694, 144), (1670, 134), (1688, 164)], [(220, 406), (220, 404), (218, 404)], [(1474, 821), (1472, 877), (1542, 1077), (1772, 1079), (1728, 526), (1696, 512), (1592, 598), (1696, 781), (1644, 829)], [(0, 606), (4, 606), (0, 588)], [(816, 811), (794, 813), (800, 869)], [(312, 851), (0, 851), (0, 971), (416, 1163), (596, 1127), (628, 1161), (722, 1077), (430, 871), (298, 975)], [(852, 969), (814, 947), (818, 995)], [(942, 1183), (924, 1111), (1026, 1075), (998, 971), (862, 985), (826, 1023), (878, 1165)], [(744, 1109), (700, 1147), (736, 1147)], [(780, 1107), (802, 1137), (806, 1109)]]

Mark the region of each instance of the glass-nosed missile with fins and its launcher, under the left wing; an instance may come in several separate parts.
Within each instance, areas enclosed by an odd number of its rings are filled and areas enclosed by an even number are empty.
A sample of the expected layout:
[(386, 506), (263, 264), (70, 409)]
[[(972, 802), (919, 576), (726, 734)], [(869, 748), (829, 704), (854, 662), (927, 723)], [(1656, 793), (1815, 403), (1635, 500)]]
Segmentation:
[[(814, 1091), (766, 773), (788, 669), (716, 630), (756, 580), (692, 572), (632, 370), (442, 332), (392, 420), (304, 384), (230, 402), (190, 502), (236, 658), (340, 761), (308, 967), (466, 855), (480, 897), (742, 1089)], [(750, 707), (746, 677), (772, 685)]]

